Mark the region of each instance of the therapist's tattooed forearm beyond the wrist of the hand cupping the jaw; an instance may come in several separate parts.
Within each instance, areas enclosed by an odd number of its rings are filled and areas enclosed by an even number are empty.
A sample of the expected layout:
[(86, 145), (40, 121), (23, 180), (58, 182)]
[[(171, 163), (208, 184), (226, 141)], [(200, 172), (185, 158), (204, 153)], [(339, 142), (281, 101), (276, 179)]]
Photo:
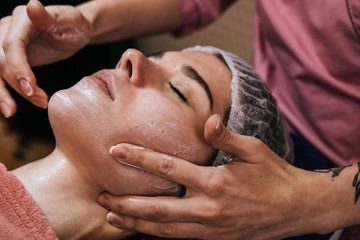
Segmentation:
[(359, 171), (356, 163), (312, 172), (304, 180), (309, 191), (302, 200), (306, 205), (303, 219), (310, 232), (329, 233), (360, 223)]

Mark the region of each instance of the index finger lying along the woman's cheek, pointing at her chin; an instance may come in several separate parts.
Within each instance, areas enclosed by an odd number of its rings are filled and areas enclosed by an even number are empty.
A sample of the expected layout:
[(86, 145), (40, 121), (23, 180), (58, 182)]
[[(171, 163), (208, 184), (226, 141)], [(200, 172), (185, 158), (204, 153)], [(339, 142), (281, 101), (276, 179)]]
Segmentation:
[(110, 154), (122, 164), (140, 167), (188, 189), (201, 189), (203, 179), (208, 175), (206, 167), (130, 144), (118, 144), (110, 149)]

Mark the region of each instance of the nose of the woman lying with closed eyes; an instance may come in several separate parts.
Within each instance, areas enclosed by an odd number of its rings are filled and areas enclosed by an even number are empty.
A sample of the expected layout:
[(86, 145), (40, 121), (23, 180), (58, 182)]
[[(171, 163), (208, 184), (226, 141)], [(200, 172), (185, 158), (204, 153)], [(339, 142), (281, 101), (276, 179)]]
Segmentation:
[(151, 82), (155, 68), (155, 63), (136, 49), (126, 50), (116, 66), (116, 69), (127, 72), (130, 83), (136, 87), (142, 87)]

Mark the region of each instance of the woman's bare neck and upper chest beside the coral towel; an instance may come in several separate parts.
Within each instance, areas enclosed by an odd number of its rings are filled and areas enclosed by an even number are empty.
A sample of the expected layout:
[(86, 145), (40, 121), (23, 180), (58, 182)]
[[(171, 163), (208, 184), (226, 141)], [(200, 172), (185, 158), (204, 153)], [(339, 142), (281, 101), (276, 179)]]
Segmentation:
[(97, 204), (103, 191), (96, 180), (55, 149), (44, 159), (13, 173), (39, 204), (60, 239), (126, 237), (105, 221), (107, 211)]

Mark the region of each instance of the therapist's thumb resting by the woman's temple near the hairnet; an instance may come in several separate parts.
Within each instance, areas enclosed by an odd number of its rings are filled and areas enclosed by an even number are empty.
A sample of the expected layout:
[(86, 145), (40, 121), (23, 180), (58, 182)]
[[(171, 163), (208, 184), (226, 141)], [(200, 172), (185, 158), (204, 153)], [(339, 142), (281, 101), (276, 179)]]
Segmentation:
[(228, 152), (233, 159), (246, 162), (257, 162), (259, 150), (267, 148), (266, 145), (255, 137), (239, 135), (227, 129), (221, 117), (214, 114), (205, 123), (205, 140), (214, 148)]

